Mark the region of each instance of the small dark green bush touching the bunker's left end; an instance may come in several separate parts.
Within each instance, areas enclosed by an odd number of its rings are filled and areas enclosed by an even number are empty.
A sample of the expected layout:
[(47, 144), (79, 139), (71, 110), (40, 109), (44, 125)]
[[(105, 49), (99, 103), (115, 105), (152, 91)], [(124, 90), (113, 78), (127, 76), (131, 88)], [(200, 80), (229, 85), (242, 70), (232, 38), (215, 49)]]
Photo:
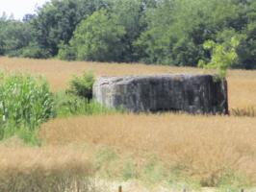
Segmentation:
[(91, 100), (93, 84), (93, 74), (91, 72), (85, 72), (82, 77), (74, 77), (71, 80), (70, 87), (66, 90), (66, 93)]

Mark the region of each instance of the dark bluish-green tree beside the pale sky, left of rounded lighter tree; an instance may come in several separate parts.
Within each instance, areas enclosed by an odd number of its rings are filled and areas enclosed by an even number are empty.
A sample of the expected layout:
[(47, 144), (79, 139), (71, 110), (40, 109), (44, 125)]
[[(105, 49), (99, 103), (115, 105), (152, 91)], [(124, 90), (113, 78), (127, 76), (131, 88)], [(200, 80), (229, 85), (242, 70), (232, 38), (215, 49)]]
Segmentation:
[(104, 0), (52, 0), (46, 3), (33, 19), (39, 47), (50, 56), (56, 56), (60, 44), (68, 43), (78, 23), (105, 6)]

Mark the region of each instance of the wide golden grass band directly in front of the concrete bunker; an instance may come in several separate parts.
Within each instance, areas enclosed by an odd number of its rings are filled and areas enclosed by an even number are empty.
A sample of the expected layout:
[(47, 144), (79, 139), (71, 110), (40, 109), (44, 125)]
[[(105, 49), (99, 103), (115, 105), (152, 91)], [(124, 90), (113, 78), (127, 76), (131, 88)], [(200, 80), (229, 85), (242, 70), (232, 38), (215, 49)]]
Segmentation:
[(211, 185), (228, 169), (256, 181), (255, 125), (256, 118), (245, 117), (115, 114), (53, 120), (40, 137), (51, 145), (90, 142), (154, 154)]

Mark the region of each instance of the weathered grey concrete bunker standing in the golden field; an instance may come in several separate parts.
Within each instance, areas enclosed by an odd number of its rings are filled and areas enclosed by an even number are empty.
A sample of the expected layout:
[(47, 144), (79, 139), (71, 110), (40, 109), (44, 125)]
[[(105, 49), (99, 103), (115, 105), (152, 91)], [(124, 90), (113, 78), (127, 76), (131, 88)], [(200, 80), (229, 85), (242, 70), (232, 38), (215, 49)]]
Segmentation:
[(135, 112), (228, 113), (226, 81), (211, 75), (101, 77), (93, 97), (106, 107)]

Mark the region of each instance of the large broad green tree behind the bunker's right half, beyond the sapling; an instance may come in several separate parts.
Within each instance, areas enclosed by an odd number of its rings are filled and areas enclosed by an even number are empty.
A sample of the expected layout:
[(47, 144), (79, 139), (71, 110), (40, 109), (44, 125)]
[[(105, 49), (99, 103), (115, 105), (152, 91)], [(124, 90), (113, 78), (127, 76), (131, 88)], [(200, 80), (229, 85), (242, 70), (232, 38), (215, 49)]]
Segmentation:
[(216, 40), (228, 28), (243, 30), (243, 13), (243, 5), (230, 0), (160, 1), (147, 12), (148, 29), (136, 42), (141, 60), (195, 66), (200, 58), (210, 57), (204, 41)]

